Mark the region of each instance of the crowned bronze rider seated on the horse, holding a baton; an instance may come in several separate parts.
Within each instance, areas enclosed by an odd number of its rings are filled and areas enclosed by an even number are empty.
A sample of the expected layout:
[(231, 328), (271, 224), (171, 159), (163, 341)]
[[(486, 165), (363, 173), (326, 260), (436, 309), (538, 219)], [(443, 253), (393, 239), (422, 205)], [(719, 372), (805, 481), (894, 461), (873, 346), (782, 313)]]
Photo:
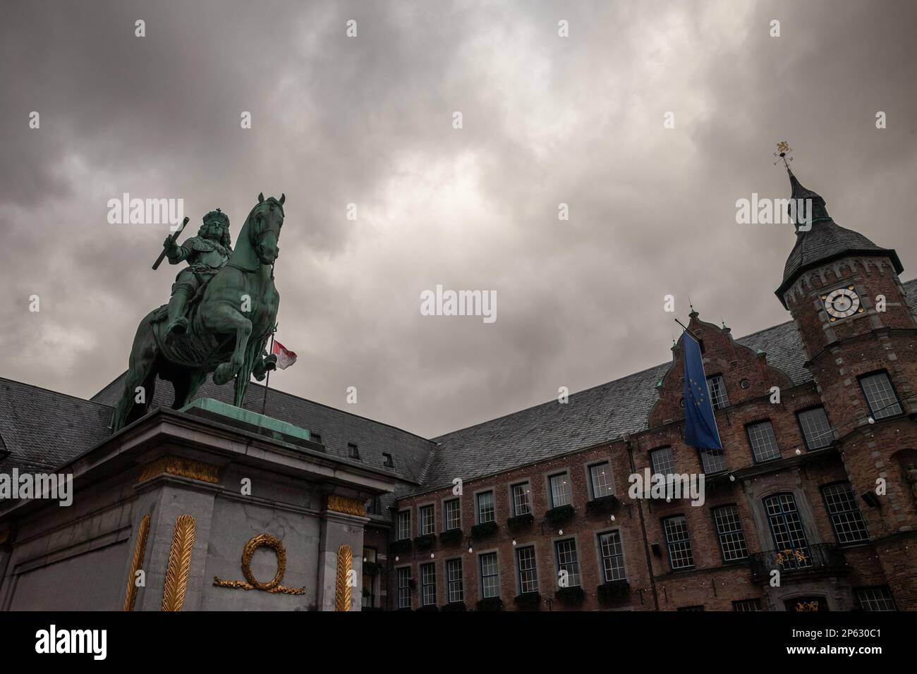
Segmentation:
[(196, 237), (188, 238), (181, 246), (171, 237), (163, 242), (169, 264), (188, 260), (188, 267), (179, 271), (172, 283), (168, 334), (183, 335), (188, 330), (185, 316), (188, 302), (229, 260), (232, 255), (230, 243), (229, 218), (219, 208), (204, 215), (204, 224), (197, 230)]

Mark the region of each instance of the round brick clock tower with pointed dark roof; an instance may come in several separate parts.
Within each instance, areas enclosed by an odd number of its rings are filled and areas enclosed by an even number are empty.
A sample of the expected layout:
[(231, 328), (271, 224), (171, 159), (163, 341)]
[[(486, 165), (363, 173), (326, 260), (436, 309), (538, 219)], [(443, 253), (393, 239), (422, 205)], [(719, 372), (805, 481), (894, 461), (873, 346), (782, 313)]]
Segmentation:
[(776, 293), (799, 331), (870, 554), (902, 589), (898, 607), (915, 610), (907, 569), (917, 558), (917, 321), (903, 268), (893, 249), (837, 225), (822, 196), (787, 171), (793, 200), (805, 205)]

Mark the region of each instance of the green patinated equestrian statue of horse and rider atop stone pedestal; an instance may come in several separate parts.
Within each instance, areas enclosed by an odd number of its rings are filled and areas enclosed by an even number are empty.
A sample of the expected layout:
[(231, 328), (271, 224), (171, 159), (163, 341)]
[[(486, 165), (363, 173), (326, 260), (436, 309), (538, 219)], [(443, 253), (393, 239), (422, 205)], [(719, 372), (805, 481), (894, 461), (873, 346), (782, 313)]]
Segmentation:
[(250, 377), (260, 381), (274, 369), (277, 357), (265, 347), (280, 305), (273, 270), (285, 199), (258, 195), (235, 250), (229, 245), (229, 218), (219, 209), (204, 215), (198, 236), (181, 246), (174, 237), (165, 240), (170, 263), (189, 266), (176, 277), (169, 304), (140, 321), (115, 430), (147, 413), (157, 376), (171, 381), (173, 409), (190, 403), (211, 372), (219, 385), (235, 379), (235, 403), (241, 407)]

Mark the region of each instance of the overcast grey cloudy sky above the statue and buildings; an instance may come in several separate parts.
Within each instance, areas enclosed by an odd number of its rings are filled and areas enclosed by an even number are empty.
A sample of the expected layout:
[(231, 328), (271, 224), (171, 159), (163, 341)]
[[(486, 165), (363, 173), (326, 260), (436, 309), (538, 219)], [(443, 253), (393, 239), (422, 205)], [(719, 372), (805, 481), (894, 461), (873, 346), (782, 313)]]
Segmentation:
[[(177, 268), (150, 270), (167, 225), (108, 224), (122, 193), (234, 238), (285, 193), (299, 361), (271, 385), (425, 436), (668, 360), (668, 293), (735, 336), (787, 320), (792, 227), (735, 223), (789, 195), (780, 140), (910, 279), (915, 25), (903, 0), (7, 2), (0, 376), (88, 397), (127, 367)], [(497, 320), (421, 315), (436, 284)]]

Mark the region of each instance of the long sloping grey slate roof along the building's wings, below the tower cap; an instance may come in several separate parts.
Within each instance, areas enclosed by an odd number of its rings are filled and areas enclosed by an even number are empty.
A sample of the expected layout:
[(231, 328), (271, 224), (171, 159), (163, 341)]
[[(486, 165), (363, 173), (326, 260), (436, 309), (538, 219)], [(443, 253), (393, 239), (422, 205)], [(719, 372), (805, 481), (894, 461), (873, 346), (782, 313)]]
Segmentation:
[[(917, 306), (917, 279), (904, 283), (911, 306)], [(766, 351), (768, 364), (783, 370), (794, 384), (811, 381), (795, 325), (789, 321), (737, 339)], [(347, 457), (348, 443), (359, 447), (364, 464), (384, 469), (382, 452), (392, 454), (400, 476), (396, 496), (446, 486), (454, 477), (475, 477), (510, 470), (532, 461), (614, 440), (646, 430), (657, 381), (670, 366), (663, 363), (621, 379), (570, 395), (569, 403), (552, 400), (427, 440), (321, 403), (270, 389), (266, 414), (308, 428), (322, 436), (327, 450)], [(123, 376), (91, 401), (0, 378), (0, 470), (53, 470), (98, 444), (110, 434), (113, 405)], [(231, 402), (231, 386), (207, 381), (199, 397)], [(245, 407), (260, 412), (264, 388), (252, 383)], [(154, 405), (171, 403), (171, 385), (157, 384)], [(384, 519), (384, 510), (383, 516)]]

